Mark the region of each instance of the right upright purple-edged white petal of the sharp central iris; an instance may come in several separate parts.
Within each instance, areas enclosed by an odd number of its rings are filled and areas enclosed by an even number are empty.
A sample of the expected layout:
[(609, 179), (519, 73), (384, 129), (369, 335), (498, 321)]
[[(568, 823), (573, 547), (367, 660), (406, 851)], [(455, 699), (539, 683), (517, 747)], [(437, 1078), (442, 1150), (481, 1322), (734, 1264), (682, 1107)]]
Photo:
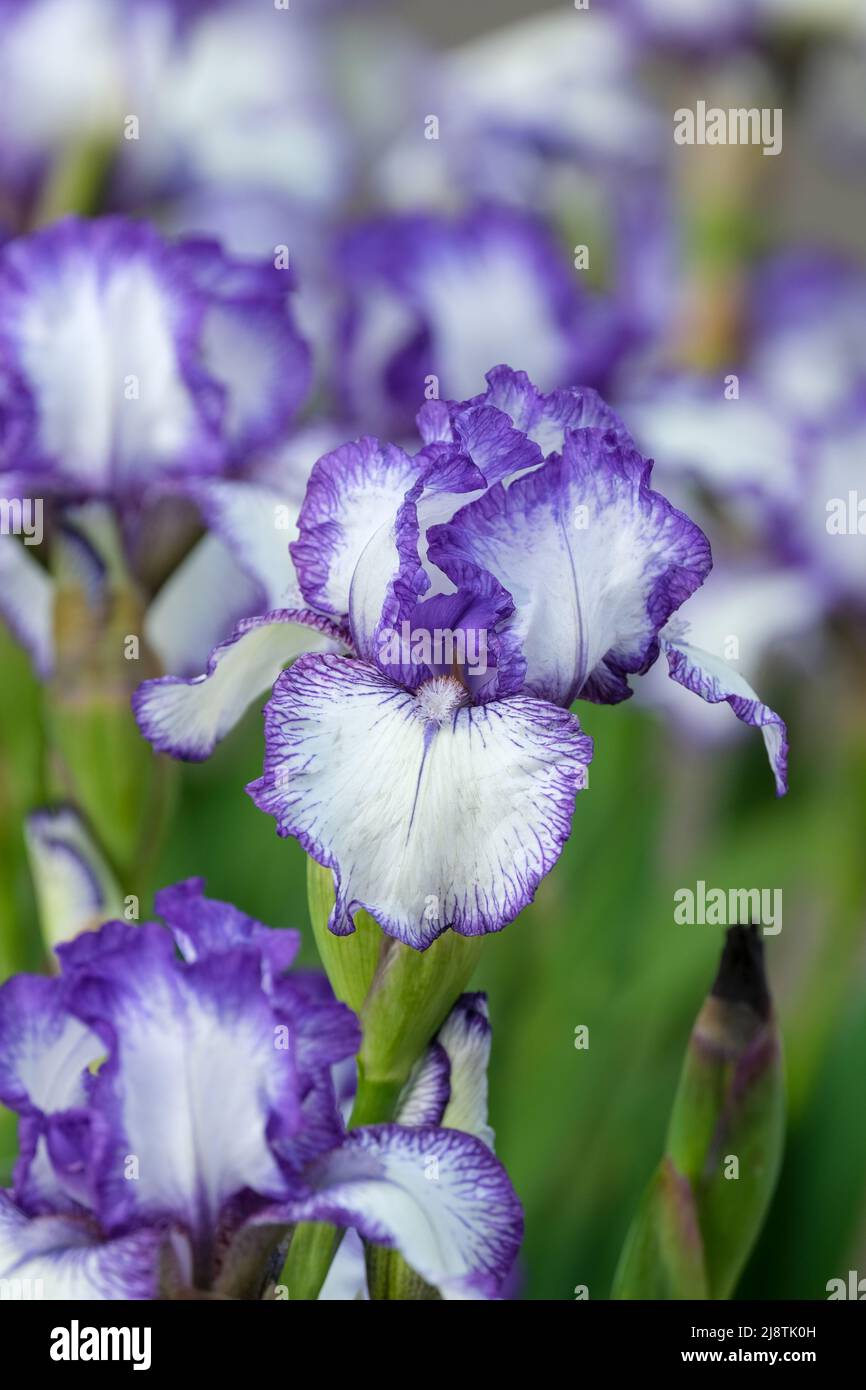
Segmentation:
[(478, 566), (512, 594), (539, 698), (624, 699), (626, 674), (648, 670), (659, 630), (709, 573), (706, 537), (651, 489), (651, 467), (613, 432), (577, 430), (562, 457), (430, 532), (445, 574)]

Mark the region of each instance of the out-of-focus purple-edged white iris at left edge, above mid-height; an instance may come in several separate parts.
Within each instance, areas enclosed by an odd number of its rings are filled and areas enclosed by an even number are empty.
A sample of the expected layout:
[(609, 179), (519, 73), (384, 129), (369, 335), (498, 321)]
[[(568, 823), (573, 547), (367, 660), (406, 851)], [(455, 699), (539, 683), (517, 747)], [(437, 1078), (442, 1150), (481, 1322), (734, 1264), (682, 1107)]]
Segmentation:
[[(272, 263), (120, 217), (67, 218), (0, 252), (0, 613), (40, 671), (54, 591), (33, 542), (75, 531), (78, 509), (96, 505), (147, 588), (154, 556), (183, 543), (178, 502), (207, 512), (210, 489), (221, 500), (285, 438), (310, 379), (292, 284)], [(90, 555), (95, 580), (101, 564)], [(189, 624), (204, 594), (215, 607), (211, 571), (186, 595)], [(252, 596), (235, 588), (225, 602), (249, 612)]]

